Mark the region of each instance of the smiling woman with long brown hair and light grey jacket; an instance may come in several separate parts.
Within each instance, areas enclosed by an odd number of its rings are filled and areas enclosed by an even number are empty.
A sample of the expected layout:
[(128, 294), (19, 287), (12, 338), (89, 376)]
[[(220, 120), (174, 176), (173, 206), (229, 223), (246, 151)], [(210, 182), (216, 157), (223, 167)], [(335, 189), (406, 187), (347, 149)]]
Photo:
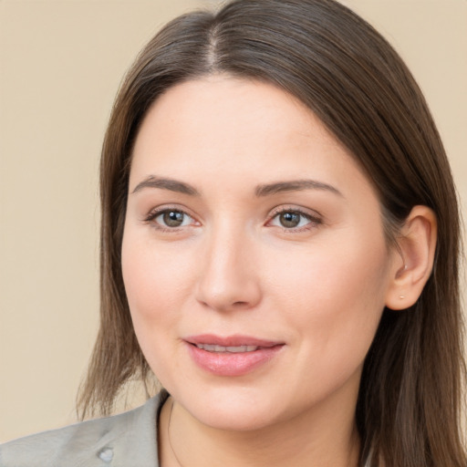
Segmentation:
[(83, 417), (2, 465), (465, 466), (459, 216), (426, 103), (331, 0), (236, 1), (150, 41), (101, 161)]

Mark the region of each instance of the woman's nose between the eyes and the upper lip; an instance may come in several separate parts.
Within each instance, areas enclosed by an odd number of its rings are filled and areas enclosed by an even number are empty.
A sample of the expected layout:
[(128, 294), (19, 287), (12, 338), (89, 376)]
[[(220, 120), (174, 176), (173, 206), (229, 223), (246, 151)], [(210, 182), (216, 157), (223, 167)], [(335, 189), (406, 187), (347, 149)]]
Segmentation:
[(261, 301), (254, 240), (240, 229), (219, 229), (206, 239), (197, 300), (217, 311), (250, 309)]

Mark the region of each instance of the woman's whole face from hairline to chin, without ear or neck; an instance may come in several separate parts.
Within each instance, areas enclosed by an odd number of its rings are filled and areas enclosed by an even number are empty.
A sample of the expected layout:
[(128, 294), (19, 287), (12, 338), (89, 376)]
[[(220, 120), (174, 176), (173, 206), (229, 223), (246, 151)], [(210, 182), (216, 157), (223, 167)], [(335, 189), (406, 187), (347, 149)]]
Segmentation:
[(366, 176), (283, 90), (193, 80), (143, 120), (123, 277), (150, 368), (195, 419), (353, 413), (393, 255)]

